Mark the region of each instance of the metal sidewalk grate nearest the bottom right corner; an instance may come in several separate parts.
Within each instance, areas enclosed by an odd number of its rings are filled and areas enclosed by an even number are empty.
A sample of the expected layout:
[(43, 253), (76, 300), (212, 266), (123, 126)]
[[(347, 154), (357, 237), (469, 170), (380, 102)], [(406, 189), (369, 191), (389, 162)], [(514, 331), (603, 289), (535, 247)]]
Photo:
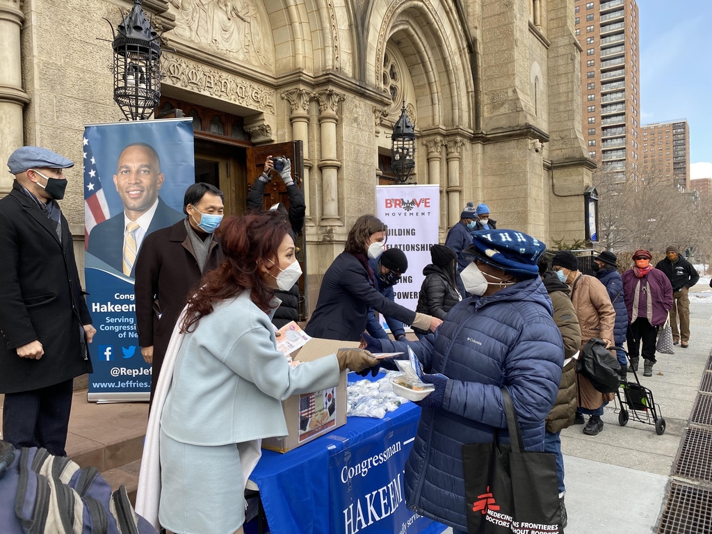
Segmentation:
[(658, 534), (709, 534), (712, 532), (712, 492), (672, 483)]

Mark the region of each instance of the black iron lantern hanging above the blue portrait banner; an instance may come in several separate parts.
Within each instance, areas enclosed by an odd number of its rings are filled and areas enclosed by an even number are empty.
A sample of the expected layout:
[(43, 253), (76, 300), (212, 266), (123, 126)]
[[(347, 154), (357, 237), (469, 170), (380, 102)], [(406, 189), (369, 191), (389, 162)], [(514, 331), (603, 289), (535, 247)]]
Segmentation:
[(141, 0), (121, 15), (116, 31), (111, 27), (114, 101), (127, 120), (145, 120), (161, 98), (161, 36), (146, 18)]

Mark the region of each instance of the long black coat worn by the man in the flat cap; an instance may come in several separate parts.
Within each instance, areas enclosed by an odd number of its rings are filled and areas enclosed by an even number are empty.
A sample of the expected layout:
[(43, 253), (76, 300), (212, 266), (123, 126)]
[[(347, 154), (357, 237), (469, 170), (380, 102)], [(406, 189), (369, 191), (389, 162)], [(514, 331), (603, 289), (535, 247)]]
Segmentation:
[[(72, 234), (56, 225), (15, 182), (0, 200), (0, 393), (51, 386), (92, 372), (82, 325), (91, 316), (79, 283)], [(44, 355), (16, 348), (39, 340)]]

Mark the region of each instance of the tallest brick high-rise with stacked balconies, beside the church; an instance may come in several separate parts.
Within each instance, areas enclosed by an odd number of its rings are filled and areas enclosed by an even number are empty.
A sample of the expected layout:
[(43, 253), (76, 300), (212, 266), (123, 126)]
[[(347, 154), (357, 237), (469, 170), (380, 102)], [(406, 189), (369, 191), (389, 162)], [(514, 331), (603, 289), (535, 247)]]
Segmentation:
[(584, 138), (600, 169), (621, 176), (641, 164), (638, 21), (635, 0), (575, 2)]

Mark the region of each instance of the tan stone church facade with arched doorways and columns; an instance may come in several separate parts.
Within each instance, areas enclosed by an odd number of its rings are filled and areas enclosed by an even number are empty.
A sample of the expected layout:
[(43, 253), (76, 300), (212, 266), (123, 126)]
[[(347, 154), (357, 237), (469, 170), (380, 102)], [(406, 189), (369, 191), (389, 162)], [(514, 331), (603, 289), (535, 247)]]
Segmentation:
[[(78, 162), (61, 202), (83, 250), (83, 125), (122, 115), (122, 0), (0, 0), (0, 159), (22, 144)], [(310, 305), (375, 185), (402, 101), (441, 239), (466, 201), (550, 243), (584, 236), (595, 166), (581, 125), (574, 0), (145, 0), (162, 95), (241, 117), (254, 146), (303, 141)], [(0, 194), (11, 187), (0, 173)], [(240, 185), (241, 187), (241, 185)]]

